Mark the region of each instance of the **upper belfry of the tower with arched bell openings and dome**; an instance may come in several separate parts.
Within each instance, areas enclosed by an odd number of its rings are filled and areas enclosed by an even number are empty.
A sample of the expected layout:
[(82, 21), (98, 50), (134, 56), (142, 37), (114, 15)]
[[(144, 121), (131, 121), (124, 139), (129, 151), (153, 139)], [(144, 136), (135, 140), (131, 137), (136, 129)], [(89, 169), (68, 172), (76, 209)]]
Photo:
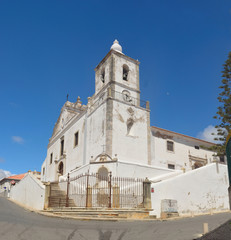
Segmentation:
[(139, 64), (138, 60), (124, 55), (115, 40), (109, 53), (95, 68), (95, 95), (111, 87), (112, 94), (121, 94), (121, 100), (139, 105)]

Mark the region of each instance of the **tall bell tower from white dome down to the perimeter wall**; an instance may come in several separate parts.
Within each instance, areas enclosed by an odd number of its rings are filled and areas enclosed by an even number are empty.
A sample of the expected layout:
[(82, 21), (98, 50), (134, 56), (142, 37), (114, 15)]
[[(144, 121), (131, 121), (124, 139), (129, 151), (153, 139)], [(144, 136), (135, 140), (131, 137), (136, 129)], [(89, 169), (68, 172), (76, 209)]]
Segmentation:
[[(105, 104), (105, 153), (111, 158), (150, 164), (150, 110), (140, 100), (139, 64), (117, 40), (95, 68), (94, 101)], [(96, 104), (95, 104), (96, 105)]]

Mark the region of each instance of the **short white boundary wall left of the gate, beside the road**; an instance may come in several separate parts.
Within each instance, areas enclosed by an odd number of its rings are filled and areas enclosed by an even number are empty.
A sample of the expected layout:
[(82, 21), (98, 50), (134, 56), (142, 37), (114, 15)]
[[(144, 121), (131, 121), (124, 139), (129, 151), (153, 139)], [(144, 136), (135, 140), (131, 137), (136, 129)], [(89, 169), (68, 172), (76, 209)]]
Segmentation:
[(10, 191), (11, 199), (37, 210), (43, 209), (44, 197), (45, 186), (32, 174), (27, 174)]

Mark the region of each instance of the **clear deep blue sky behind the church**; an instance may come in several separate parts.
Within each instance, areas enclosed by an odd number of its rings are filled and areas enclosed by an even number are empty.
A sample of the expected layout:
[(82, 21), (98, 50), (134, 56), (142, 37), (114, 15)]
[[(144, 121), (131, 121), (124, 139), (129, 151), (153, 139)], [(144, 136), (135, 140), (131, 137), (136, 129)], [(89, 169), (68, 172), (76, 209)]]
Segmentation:
[(40, 170), (67, 93), (87, 102), (115, 39), (141, 62), (152, 125), (203, 137), (216, 124), (230, 1), (0, 1), (0, 169)]

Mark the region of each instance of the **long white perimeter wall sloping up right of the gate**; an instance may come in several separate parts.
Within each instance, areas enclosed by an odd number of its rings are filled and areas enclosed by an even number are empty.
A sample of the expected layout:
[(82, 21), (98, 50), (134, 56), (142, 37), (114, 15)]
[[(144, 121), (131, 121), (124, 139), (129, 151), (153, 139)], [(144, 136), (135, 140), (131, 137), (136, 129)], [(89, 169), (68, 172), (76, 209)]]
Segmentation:
[(152, 215), (160, 217), (161, 200), (177, 200), (180, 215), (229, 209), (227, 166), (210, 165), (153, 183)]

